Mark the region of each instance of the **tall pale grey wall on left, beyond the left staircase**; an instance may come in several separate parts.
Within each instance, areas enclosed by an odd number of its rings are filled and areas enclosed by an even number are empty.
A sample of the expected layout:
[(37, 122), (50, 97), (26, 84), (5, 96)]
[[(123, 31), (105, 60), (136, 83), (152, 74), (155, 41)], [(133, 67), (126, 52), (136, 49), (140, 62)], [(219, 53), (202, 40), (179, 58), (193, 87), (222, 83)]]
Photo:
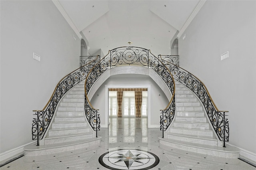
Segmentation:
[(0, 3), (3, 153), (32, 141), (32, 110), (43, 109), (58, 81), (79, 67), (80, 40), (52, 1)]

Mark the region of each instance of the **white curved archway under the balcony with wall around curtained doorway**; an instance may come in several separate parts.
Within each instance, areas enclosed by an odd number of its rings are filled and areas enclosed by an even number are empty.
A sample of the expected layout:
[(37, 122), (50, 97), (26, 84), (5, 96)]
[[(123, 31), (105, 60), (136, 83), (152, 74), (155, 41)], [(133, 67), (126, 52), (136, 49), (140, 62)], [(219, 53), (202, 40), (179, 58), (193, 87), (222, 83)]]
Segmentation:
[[(113, 75), (115, 79), (108, 81)], [(132, 77), (135, 79), (130, 81)], [(160, 126), (160, 109), (164, 109), (172, 98), (167, 85), (150, 68), (122, 66), (106, 70), (88, 93), (92, 106), (99, 109), (101, 127), (108, 127), (108, 88), (118, 87), (148, 88), (148, 127), (158, 128)]]

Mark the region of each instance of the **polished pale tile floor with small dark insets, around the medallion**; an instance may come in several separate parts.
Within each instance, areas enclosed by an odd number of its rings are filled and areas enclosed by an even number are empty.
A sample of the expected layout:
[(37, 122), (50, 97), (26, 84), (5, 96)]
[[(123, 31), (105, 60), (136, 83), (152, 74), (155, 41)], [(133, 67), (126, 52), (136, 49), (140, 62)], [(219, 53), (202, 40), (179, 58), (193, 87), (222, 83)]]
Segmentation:
[[(106, 170), (99, 157), (114, 150), (143, 150), (158, 156), (160, 162), (152, 170), (256, 170), (254, 166), (239, 159), (226, 159), (196, 154), (162, 146), (159, 128), (147, 128), (147, 118), (110, 118), (109, 128), (101, 128), (98, 135), (102, 141), (90, 148), (47, 154), (23, 156), (1, 170)], [(125, 154), (126, 152), (124, 152)], [(128, 168), (127, 168), (128, 169)]]

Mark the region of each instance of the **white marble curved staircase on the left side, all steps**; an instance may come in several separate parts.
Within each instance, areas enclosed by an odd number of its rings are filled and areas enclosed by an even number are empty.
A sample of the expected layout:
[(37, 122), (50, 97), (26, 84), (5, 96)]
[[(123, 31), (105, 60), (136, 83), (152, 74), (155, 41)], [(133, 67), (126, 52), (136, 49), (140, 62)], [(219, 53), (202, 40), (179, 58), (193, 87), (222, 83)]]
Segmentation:
[(100, 140), (101, 137), (95, 137), (85, 118), (82, 81), (61, 99), (40, 146), (30, 144), (24, 150), (27, 156), (36, 156), (89, 147), (100, 143)]

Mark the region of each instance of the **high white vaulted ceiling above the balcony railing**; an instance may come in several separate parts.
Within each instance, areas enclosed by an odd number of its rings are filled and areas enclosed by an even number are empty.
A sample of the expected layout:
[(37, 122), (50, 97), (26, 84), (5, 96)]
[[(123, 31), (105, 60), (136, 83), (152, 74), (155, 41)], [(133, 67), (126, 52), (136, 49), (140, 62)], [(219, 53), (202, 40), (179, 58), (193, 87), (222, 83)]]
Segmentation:
[[(170, 54), (170, 41), (184, 26), (200, 0), (59, 0), (89, 53), (122, 46)], [(131, 41), (129, 45), (127, 42)]]

